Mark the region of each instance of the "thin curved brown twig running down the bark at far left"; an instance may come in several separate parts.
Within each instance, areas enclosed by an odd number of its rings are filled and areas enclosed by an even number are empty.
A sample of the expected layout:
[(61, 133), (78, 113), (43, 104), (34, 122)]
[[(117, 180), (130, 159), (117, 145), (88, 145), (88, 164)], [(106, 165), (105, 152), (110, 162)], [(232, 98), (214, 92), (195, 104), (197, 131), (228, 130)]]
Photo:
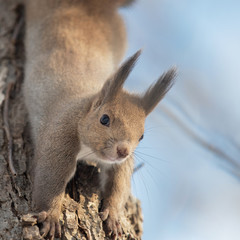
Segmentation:
[(13, 87), (14, 83), (10, 82), (7, 85), (7, 90), (6, 90), (6, 95), (5, 95), (5, 100), (4, 100), (4, 106), (3, 106), (3, 123), (4, 123), (4, 130), (7, 136), (8, 140), (8, 164), (9, 168), (11, 170), (11, 173), (16, 176), (16, 170), (13, 166), (13, 160), (12, 160), (12, 146), (13, 146), (13, 141), (12, 141), (12, 135), (10, 132), (10, 127), (9, 127), (9, 116), (8, 116), (8, 105), (9, 105), (9, 97), (10, 97), (10, 92)]

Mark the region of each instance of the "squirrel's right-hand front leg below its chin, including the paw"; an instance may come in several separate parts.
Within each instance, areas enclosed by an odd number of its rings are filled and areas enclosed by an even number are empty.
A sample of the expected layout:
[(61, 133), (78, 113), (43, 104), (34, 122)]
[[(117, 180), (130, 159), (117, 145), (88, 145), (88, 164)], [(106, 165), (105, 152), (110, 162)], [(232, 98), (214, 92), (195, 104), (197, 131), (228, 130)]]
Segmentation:
[(122, 234), (120, 218), (131, 193), (133, 164), (133, 158), (130, 156), (121, 164), (101, 168), (103, 205), (100, 217), (105, 222), (106, 233), (114, 238)]

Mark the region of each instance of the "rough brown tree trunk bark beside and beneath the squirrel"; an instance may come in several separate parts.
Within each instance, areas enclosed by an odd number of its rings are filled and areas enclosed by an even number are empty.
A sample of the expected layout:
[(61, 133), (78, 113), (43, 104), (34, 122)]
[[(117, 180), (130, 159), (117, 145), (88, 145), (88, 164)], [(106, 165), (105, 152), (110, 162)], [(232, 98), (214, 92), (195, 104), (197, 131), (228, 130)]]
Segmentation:
[[(31, 181), (27, 172), (33, 150), (21, 93), (23, 38), (24, 6), (17, 0), (0, 0), (0, 239), (42, 239), (35, 219), (26, 215), (31, 212)], [(9, 149), (3, 120), (6, 89), (11, 83), (8, 116), (16, 176), (11, 174), (7, 160)], [(78, 168), (81, 175), (76, 175), (66, 190), (61, 216), (62, 239), (108, 239), (98, 216), (101, 205), (98, 169), (86, 165)], [(142, 221), (140, 203), (130, 197), (122, 219), (122, 239), (140, 239)]]

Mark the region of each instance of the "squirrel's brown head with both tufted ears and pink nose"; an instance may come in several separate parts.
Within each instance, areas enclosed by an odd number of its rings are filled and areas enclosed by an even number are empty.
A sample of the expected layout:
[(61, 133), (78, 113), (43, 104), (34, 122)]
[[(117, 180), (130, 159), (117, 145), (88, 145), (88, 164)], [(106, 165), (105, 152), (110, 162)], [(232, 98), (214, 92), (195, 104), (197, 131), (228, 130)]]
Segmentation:
[(123, 90), (140, 51), (130, 57), (103, 85), (79, 125), (81, 147), (87, 159), (120, 163), (135, 150), (144, 134), (147, 115), (173, 85), (175, 69), (163, 74), (142, 95)]

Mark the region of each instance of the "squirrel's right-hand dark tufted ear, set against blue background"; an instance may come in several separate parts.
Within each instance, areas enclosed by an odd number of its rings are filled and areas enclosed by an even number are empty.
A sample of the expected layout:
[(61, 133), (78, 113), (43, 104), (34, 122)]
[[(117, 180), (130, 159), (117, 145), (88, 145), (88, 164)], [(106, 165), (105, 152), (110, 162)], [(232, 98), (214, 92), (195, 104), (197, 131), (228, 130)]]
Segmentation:
[(143, 109), (148, 115), (174, 84), (176, 68), (171, 68), (152, 84), (141, 98)]

